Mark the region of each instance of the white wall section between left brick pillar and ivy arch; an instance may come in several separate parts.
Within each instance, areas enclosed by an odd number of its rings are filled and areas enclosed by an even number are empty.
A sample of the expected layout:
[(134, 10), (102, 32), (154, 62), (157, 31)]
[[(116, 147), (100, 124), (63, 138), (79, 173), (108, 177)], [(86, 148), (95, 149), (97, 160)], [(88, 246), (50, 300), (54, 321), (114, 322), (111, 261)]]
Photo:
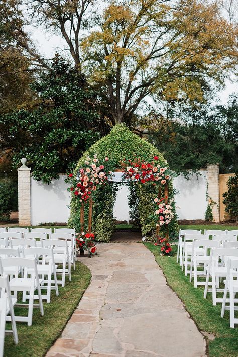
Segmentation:
[(31, 224), (43, 222), (67, 222), (70, 193), (64, 182), (65, 175), (50, 185), (37, 182), (31, 177)]

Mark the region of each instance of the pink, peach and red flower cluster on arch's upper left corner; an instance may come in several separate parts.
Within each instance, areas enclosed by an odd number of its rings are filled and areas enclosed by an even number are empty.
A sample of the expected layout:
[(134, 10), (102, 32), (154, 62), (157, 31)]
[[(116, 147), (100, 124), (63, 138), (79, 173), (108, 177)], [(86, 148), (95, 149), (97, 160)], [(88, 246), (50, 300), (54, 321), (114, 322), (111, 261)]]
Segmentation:
[[(104, 160), (107, 162), (109, 159), (108, 157), (105, 157)], [(96, 154), (93, 159), (87, 156), (85, 167), (81, 167), (78, 170), (76, 176), (77, 183), (76, 185), (72, 184), (70, 190), (74, 191), (74, 194), (79, 197), (80, 202), (86, 202), (92, 191), (96, 191), (98, 185), (105, 185), (110, 174), (111, 171), (106, 172), (105, 166), (99, 162)], [(72, 179), (73, 173), (70, 173), (68, 177), (69, 179)]]

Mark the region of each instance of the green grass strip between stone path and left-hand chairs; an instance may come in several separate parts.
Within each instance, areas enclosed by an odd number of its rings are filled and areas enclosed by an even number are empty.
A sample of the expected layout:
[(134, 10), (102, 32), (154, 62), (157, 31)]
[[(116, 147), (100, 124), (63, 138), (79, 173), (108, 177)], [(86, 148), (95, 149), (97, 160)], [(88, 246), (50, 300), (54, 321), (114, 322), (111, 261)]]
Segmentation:
[[(52, 290), (51, 302), (44, 305), (44, 316), (40, 315), (40, 310), (33, 310), (32, 326), (26, 323), (17, 322), (18, 345), (13, 342), (12, 335), (5, 336), (4, 356), (5, 357), (41, 357), (46, 354), (55, 340), (61, 335), (66, 323), (78, 306), (83, 293), (91, 280), (91, 273), (87, 266), (77, 262), (76, 270), (71, 270), (72, 281), (68, 281), (66, 276), (65, 287), (59, 285), (59, 296)], [(19, 312), (19, 308), (15, 308)], [(27, 309), (21, 309), (20, 314), (26, 314)]]

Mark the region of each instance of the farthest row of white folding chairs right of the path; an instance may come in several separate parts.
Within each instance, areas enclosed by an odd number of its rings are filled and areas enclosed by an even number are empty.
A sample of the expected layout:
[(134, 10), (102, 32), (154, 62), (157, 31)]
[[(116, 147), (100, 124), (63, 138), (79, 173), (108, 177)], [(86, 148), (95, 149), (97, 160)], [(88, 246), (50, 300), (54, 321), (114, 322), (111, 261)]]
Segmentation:
[[(183, 247), (184, 247), (184, 240), (183, 237), (186, 234), (201, 234), (201, 230), (196, 229), (180, 229), (179, 230), (179, 239), (178, 239), (178, 250), (177, 250), (177, 263), (179, 261), (180, 266), (182, 266), (182, 257), (183, 257)], [(204, 230), (205, 236), (215, 236), (215, 235), (238, 235), (238, 230), (219, 230), (219, 229), (212, 229), (212, 230)]]

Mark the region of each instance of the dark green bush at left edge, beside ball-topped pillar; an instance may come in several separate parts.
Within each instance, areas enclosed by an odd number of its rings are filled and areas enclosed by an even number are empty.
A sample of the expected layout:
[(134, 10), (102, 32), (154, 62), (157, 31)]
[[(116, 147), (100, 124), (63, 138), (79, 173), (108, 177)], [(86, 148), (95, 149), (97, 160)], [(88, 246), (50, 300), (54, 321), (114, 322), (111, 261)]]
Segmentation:
[(0, 181), (0, 220), (8, 221), (10, 213), (18, 207), (18, 186), (15, 181)]

